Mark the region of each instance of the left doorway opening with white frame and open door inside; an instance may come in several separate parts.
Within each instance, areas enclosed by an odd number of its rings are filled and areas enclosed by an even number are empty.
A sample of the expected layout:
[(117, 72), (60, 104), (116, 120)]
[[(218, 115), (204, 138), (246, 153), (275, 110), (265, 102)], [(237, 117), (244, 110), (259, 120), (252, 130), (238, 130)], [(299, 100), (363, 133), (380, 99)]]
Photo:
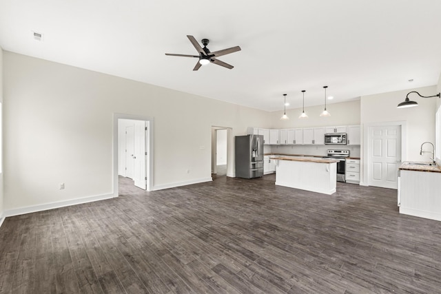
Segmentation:
[(152, 162), (153, 118), (114, 114), (114, 196), (151, 191)]

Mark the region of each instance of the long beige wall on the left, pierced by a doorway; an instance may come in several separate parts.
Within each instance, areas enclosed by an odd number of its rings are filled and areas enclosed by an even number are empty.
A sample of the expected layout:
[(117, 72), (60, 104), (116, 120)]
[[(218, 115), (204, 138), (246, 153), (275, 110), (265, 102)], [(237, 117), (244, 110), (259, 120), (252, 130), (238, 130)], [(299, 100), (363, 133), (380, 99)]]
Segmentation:
[(154, 187), (211, 178), (213, 125), (269, 125), (267, 112), (12, 52), (3, 67), (6, 210), (113, 193), (114, 113), (154, 118)]

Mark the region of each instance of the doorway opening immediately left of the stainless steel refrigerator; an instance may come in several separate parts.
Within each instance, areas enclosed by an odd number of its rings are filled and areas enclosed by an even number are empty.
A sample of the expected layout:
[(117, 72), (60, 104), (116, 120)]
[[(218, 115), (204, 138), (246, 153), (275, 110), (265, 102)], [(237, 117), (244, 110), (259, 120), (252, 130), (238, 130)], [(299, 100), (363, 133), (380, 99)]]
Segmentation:
[(232, 129), (212, 127), (212, 175), (232, 176)]

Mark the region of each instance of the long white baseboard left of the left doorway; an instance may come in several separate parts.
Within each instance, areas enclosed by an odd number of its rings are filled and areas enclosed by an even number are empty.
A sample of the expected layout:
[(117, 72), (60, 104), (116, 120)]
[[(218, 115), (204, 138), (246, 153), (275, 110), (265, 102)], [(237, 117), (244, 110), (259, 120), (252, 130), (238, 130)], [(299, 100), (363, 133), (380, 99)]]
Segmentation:
[(59, 201), (59, 202), (51, 202), (46, 204), (39, 204), (35, 206), (30, 207), (21, 207), (18, 209), (10, 209), (3, 212), (3, 216), (6, 218), (8, 216), (19, 216), (21, 214), (27, 214), (27, 213), (33, 213), (38, 211), (45, 211), (49, 209), (56, 209), (60, 207), (68, 207), (71, 205), (77, 205), (77, 204), (83, 204), (88, 202), (94, 202), (99, 200), (105, 200), (114, 198), (114, 194), (104, 194), (99, 196), (90, 196), (85, 198), (79, 198), (79, 199), (72, 199), (72, 200), (65, 200), (65, 201)]

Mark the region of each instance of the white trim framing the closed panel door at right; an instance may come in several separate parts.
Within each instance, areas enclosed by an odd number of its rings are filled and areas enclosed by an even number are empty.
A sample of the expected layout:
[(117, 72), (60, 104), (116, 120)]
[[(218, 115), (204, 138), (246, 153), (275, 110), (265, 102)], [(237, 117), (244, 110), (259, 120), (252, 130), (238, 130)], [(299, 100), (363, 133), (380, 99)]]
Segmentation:
[(381, 127), (381, 126), (390, 126), (390, 125), (399, 125), (401, 127), (401, 162), (403, 162), (407, 158), (407, 121), (398, 120), (398, 121), (386, 121), (379, 123), (366, 123), (363, 127), (363, 157), (360, 159), (360, 165), (362, 166), (362, 177), (360, 177), (360, 186), (369, 186), (368, 184), (368, 166), (369, 160), (369, 127)]

